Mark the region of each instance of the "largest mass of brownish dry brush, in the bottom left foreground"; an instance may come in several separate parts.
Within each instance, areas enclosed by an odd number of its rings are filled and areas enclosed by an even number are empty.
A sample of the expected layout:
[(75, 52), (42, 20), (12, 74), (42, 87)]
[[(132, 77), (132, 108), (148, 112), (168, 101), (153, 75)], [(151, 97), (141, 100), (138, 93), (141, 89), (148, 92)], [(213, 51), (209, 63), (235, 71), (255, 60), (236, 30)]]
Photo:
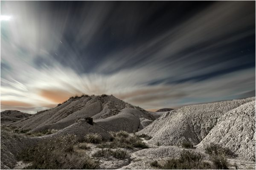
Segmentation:
[(99, 163), (73, 152), (76, 136), (58, 136), (22, 150), (17, 159), (32, 164), (26, 169), (97, 169)]

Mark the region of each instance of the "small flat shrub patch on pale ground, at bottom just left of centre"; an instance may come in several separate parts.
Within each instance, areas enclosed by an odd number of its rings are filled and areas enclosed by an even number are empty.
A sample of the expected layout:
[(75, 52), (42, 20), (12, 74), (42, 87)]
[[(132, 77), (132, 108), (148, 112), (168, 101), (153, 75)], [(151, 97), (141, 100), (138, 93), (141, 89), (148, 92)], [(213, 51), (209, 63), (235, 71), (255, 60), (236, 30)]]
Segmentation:
[(93, 157), (109, 157), (113, 156), (116, 159), (124, 159), (127, 156), (127, 152), (124, 150), (111, 150), (111, 149), (102, 149), (98, 150), (92, 155)]

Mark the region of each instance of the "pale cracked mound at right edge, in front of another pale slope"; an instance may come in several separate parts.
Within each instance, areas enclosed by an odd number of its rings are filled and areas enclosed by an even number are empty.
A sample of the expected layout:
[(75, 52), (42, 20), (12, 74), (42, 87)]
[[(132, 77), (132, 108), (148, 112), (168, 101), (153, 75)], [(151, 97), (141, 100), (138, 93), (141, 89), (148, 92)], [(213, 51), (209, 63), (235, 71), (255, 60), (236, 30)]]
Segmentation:
[(242, 159), (255, 159), (255, 101), (221, 116), (198, 148), (204, 149), (210, 143), (229, 148)]

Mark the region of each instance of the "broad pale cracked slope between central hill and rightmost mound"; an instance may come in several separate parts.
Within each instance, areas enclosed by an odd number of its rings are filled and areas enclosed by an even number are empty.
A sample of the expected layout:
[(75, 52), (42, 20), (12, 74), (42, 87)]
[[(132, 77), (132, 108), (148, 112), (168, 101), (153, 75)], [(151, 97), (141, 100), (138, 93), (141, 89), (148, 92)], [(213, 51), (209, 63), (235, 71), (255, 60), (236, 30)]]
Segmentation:
[(255, 97), (185, 106), (164, 113), (136, 134), (144, 133), (152, 136), (153, 138), (149, 141), (152, 144), (180, 145), (186, 141), (196, 145), (220, 122), (221, 116), (252, 101), (255, 101)]

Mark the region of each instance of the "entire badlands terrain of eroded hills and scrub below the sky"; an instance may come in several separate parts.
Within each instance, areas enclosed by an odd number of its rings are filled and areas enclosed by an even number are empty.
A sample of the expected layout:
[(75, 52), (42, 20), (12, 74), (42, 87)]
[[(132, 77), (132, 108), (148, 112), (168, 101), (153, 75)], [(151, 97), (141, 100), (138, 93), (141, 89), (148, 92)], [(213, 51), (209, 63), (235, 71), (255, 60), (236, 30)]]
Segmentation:
[(255, 97), (166, 109), (103, 94), (3, 111), (1, 169), (255, 169)]

